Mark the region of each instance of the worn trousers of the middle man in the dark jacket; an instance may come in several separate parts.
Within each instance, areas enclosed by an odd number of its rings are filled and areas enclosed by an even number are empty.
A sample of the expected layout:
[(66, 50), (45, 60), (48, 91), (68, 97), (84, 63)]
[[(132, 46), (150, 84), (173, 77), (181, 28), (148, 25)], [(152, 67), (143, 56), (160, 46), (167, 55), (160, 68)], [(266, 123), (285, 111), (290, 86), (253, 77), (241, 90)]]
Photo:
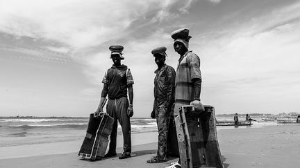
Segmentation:
[(158, 126), (158, 158), (165, 160), (167, 156), (167, 133), (169, 128), (169, 113), (165, 105), (156, 107), (156, 123)]

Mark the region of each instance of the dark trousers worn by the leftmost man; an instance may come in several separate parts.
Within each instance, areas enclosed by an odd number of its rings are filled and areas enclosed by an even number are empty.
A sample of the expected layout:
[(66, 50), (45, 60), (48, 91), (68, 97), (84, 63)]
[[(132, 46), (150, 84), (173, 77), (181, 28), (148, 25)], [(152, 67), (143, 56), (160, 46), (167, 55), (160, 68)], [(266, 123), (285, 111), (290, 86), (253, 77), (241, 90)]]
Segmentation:
[(131, 122), (127, 115), (128, 104), (127, 97), (108, 100), (106, 111), (112, 118), (115, 119), (113, 131), (110, 135), (110, 147), (108, 153), (116, 153), (117, 120), (119, 120), (119, 124), (122, 127), (124, 152), (131, 153)]

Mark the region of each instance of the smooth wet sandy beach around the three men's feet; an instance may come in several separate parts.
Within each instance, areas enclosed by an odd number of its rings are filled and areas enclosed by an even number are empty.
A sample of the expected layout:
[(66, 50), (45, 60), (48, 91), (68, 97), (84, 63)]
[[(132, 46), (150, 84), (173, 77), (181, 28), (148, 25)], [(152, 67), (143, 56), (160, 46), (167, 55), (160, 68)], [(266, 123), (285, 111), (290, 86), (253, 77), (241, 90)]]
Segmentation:
[[(300, 124), (260, 124), (251, 127), (218, 127), (217, 136), (224, 167), (299, 167)], [(132, 157), (79, 160), (82, 141), (0, 147), (0, 167), (165, 167), (167, 162), (147, 164), (156, 153), (157, 133), (133, 134)], [(122, 153), (118, 136), (117, 153)]]

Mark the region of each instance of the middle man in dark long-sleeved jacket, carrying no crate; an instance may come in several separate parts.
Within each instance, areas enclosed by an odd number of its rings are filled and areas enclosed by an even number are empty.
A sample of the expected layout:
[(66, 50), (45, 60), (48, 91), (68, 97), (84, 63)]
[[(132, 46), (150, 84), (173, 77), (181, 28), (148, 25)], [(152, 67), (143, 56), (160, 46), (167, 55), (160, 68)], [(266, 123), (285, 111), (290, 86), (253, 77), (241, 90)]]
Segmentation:
[(175, 70), (165, 64), (167, 48), (158, 47), (151, 51), (158, 66), (154, 78), (154, 102), (151, 118), (156, 118), (158, 127), (157, 155), (147, 160), (148, 163), (165, 162), (167, 155), (167, 133), (169, 118), (174, 104)]

